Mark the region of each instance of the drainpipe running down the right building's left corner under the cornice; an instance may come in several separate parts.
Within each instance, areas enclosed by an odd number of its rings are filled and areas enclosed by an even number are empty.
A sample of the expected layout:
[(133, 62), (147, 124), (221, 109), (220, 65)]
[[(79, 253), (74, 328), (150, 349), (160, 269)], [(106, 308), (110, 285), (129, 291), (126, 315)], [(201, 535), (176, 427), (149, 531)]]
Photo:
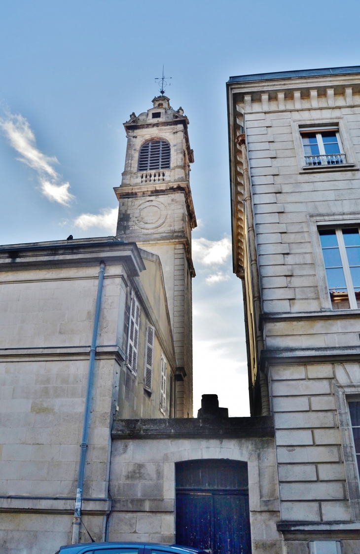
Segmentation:
[[(256, 340), (256, 346), (257, 346), (256, 351), (257, 351), (258, 363), (259, 363), (260, 352), (261, 350), (264, 350), (264, 339), (263, 339), (263, 334), (259, 328), (259, 321), (260, 321), (260, 314), (261, 314), (261, 300), (260, 300), (258, 256), (256, 254), (254, 214), (253, 214), (253, 204), (251, 201), (248, 152), (246, 151), (245, 134), (239, 135), (236, 138), (236, 142), (239, 144), (241, 148), (241, 154), (243, 155), (244, 204), (245, 204), (246, 224), (248, 227), (251, 285), (253, 287), (253, 295), (254, 295), (253, 300), (254, 300), (254, 318), (255, 318), (255, 340)], [(245, 237), (245, 233), (244, 233), (244, 237)], [(266, 377), (263, 371), (260, 371), (259, 382), (260, 382), (260, 394), (261, 394), (261, 413), (263, 416), (270, 416), (268, 377)]]

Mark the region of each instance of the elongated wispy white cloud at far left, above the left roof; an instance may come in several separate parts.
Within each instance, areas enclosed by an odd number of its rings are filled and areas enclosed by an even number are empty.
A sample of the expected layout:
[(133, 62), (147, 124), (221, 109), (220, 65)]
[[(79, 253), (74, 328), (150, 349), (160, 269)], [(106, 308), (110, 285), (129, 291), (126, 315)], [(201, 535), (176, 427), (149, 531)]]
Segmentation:
[[(29, 122), (20, 114), (7, 114), (0, 119), (0, 127), (6, 134), (11, 146), (19, 152), (19, 161), (26, 163), (38, 173), (40, 189), (50, 202), (69, 206), (75, 198), (70, 194), (69, 183), (61, 183), (61, 177), (54, 168), (59, 163), (55, 156), (45, 156), (36, 146), (35, 135)], [(59, 183), (60, 182), (60, 183)]]

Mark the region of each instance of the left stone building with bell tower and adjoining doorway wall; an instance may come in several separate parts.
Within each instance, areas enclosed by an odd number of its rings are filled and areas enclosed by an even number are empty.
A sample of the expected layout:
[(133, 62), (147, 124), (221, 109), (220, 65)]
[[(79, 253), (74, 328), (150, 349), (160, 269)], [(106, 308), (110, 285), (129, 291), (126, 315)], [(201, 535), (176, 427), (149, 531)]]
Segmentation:
[(229, 418), (216, 395), (192, 417), (187, 126), (166, 96), (126, 122), (116, 237), (0, 248), (7, 554), (54, 554), (89, 534), (281, 548), (271, 417)]

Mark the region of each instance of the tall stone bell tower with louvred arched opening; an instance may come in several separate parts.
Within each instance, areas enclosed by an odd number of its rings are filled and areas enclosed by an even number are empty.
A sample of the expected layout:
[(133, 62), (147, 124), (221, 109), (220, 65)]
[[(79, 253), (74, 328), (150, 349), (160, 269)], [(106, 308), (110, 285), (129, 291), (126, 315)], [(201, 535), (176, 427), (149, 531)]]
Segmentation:
[(177, 368), (172, 376), (174, 417), (192, 417), (191, 231), (197, 226), (189, 184), (194, 161), (189, 121), (167, 96), (124, 123), (125, 171), (115, 193), (119, 199), (116, 238), (136, 242), (162, 263)]

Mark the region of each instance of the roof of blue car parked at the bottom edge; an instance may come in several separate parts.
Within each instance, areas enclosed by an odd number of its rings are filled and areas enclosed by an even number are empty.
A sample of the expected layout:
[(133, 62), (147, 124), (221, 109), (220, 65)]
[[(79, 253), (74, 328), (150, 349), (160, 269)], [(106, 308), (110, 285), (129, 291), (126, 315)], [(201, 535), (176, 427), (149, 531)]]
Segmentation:
[(209, 554), (178, 545), (157, 545), (151, 542), (88, 542), (81, 545), (61, 546), (56, 554)]

